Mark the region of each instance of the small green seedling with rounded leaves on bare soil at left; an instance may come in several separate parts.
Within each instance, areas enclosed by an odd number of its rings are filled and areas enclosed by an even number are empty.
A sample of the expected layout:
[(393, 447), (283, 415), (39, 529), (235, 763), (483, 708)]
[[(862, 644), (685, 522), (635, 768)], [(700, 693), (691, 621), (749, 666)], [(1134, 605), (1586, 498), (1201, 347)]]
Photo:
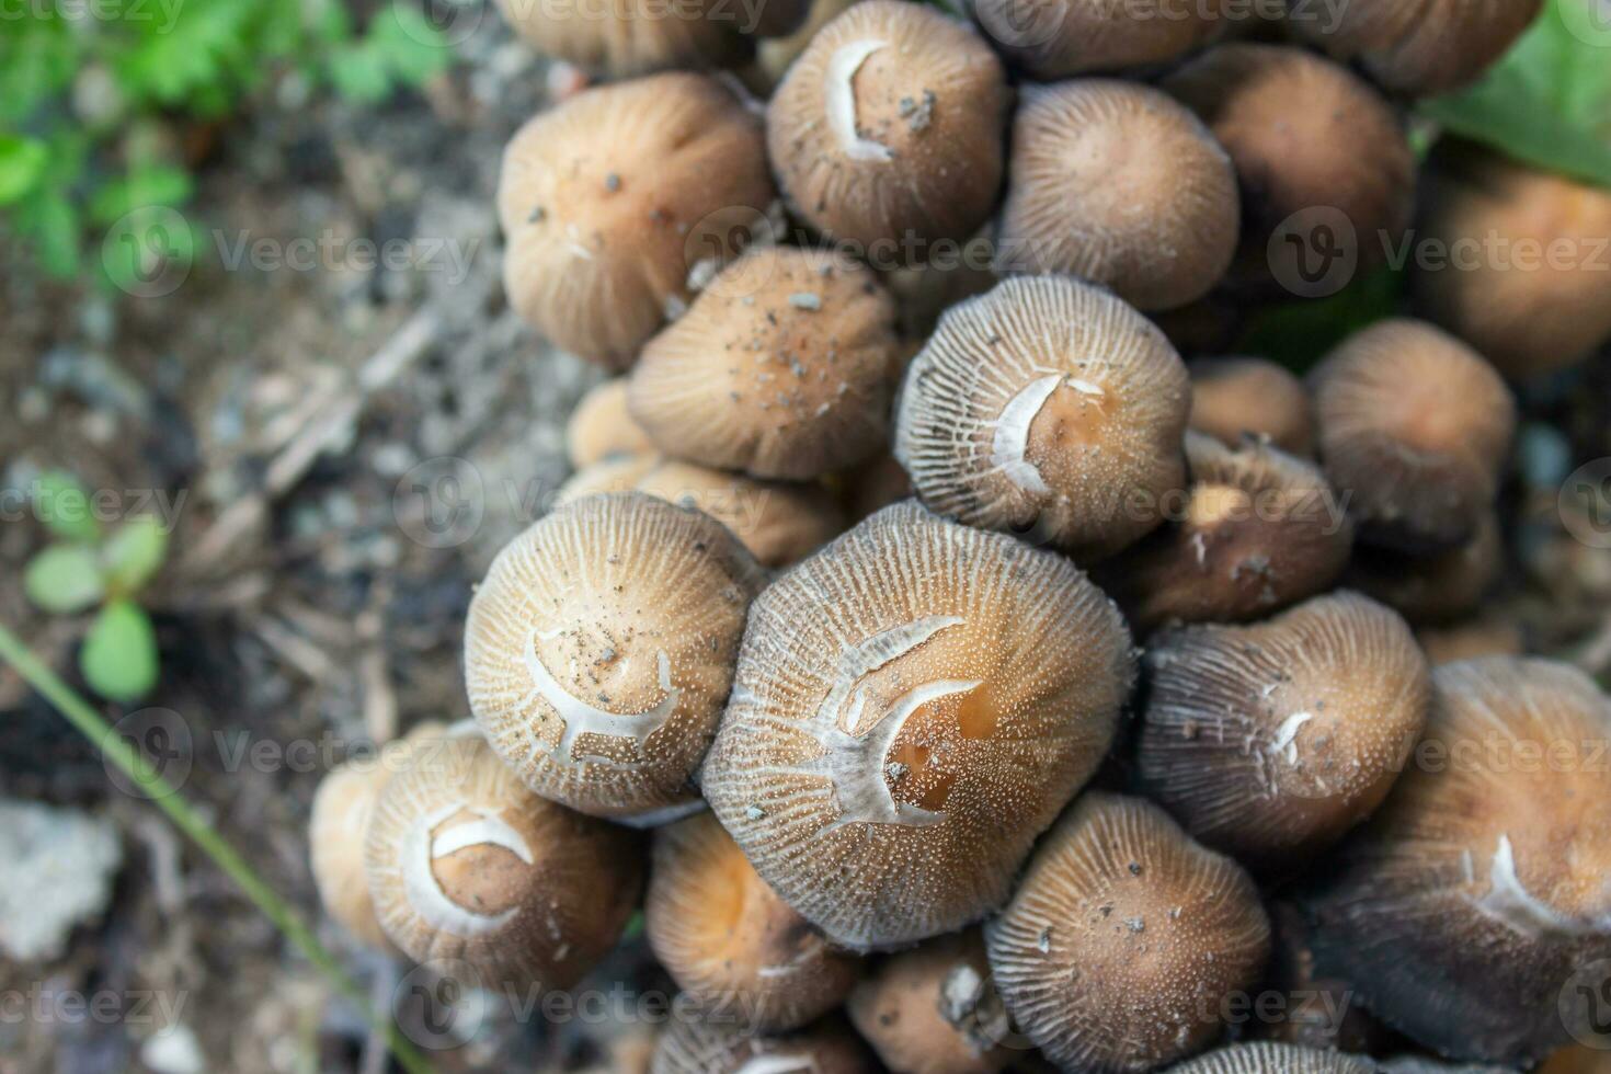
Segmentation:
[(163, 567), (168, 531), (153, 515), (106, 531), (90, 507), (74, 477), (58, 472), (39, 480), (35, 509), (56, 539), (23, 570), (23, 591), (56, 615), (98, 607), (79, 670), (101, 697), (132, 702), (156, 686), (156, 631), (139, 596)]

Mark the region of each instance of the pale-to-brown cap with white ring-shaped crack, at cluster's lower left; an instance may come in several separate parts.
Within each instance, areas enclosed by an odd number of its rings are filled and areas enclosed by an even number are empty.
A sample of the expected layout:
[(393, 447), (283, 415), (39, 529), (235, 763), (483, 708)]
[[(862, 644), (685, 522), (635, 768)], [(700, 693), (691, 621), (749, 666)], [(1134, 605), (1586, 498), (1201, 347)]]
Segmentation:
[(380, 791), (364, 841), (375, 913), (414, 961), (567, 989), (615, 944), (643, 882), (636, 836), (536, 797), (478, 734), (438, 739)]

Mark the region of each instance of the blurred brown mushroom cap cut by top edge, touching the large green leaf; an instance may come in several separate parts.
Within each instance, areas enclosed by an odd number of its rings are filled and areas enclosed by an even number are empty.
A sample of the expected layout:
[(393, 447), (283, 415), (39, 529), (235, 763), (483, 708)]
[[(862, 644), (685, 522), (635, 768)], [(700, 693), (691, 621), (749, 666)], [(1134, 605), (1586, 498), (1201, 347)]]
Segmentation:
[(1316, 18), (1289, 8), (1298, 40), (1358, 61), (1395, 93), (1443, 93), (1479, 77), (1521, 37), (1542, 0), (1355, 0)]

